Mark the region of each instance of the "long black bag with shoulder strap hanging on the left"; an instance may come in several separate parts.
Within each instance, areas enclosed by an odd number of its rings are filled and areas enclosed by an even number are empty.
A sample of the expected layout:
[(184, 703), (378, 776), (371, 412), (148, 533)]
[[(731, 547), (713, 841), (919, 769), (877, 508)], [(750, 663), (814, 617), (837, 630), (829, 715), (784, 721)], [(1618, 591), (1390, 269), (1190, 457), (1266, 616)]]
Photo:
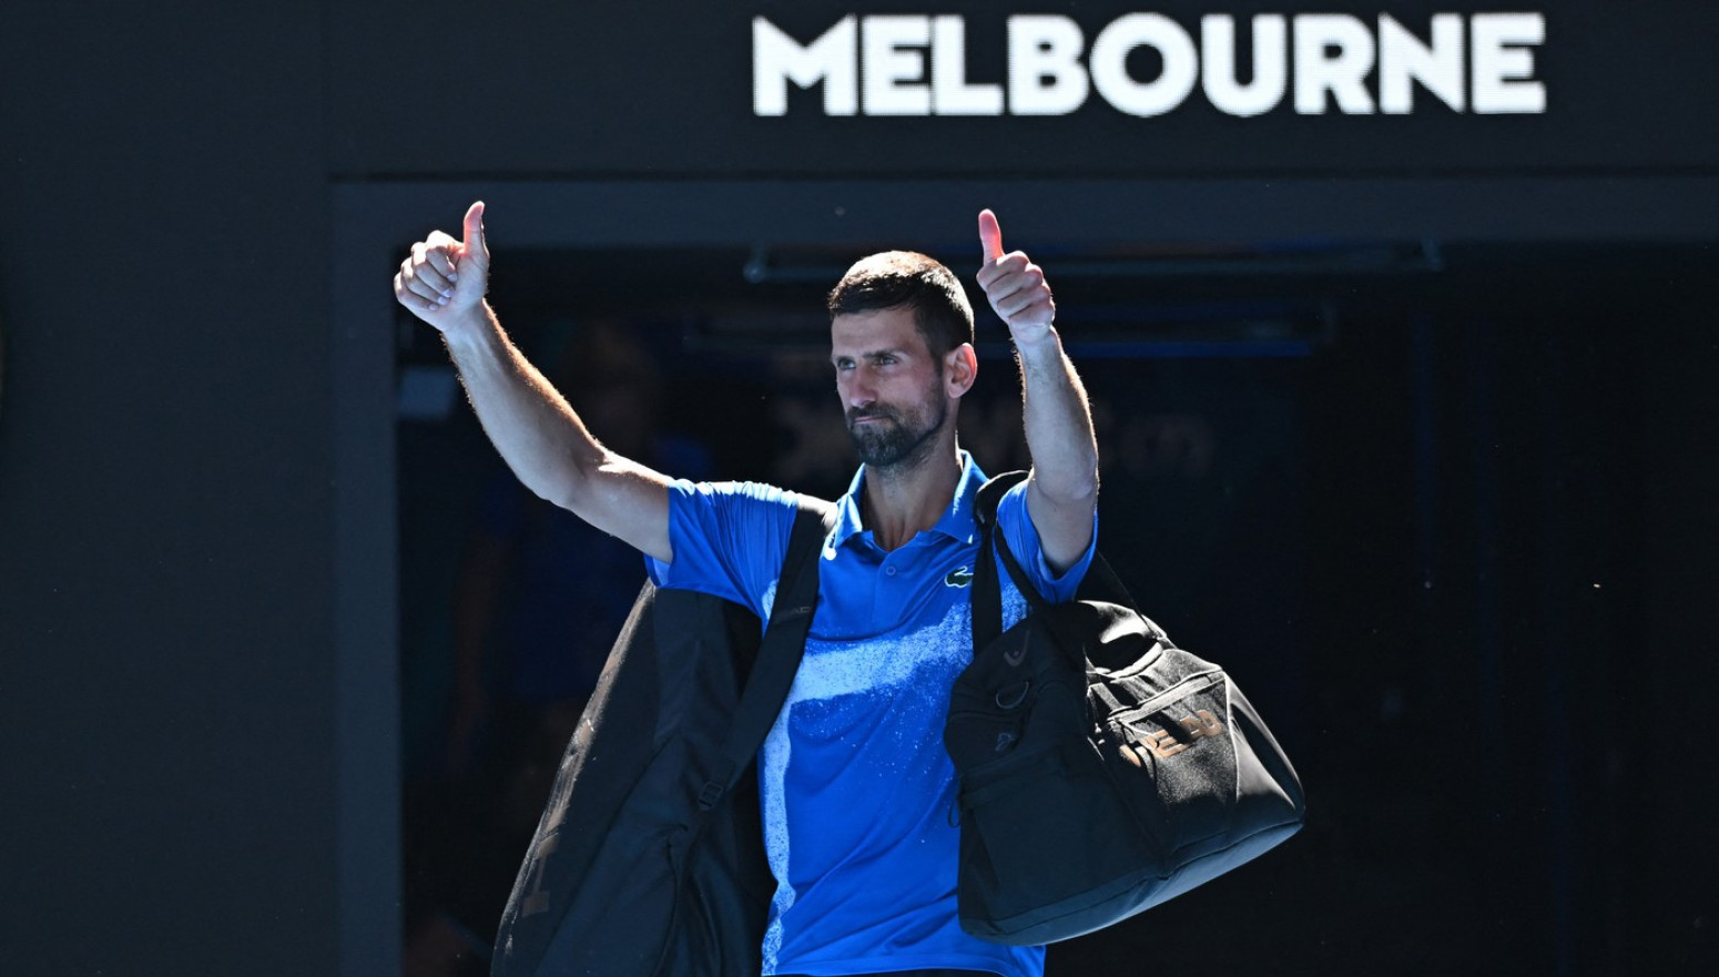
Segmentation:
[(732, 977), (763, 967), (775, 879), (753, 755), (799, 669), (829, 504), (803, 499), (770, 626), (646, 583), (567, 745), (492, 977)]

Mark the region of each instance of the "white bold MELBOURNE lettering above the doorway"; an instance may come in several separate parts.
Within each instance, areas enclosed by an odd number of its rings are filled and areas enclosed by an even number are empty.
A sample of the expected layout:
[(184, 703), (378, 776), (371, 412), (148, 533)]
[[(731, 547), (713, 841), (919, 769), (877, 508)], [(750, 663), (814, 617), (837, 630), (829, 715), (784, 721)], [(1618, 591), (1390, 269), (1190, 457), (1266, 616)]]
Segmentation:
[[(822, 114), (1069, 115), (1102, 103), (1133, 117), (1203, 98), (1234, 117), (1544, 114), (1533, 12), (1207, 14), (1196, 24), (1124, 14), (1092, 36), (1055, 14), (1006, 17), (1000, 77), (970, 77), (968, 19), (849, 14), (817, 36), (753, 19), (753, 115), (789, 114), (789, 91), (822, 89)], [(997, 58), (990, 58), (995, 62)], [(794, 110), (808, 108), (796, 100)]]

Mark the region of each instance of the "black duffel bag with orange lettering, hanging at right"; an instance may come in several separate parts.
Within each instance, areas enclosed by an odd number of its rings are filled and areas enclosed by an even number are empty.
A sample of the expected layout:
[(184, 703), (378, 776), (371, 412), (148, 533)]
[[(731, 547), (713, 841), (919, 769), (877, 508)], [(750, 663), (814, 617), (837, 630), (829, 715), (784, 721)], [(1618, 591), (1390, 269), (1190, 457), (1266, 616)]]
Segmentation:
[[(975, 654), (944, 745), (959, 776), (961, 929), (1025, 946), (1222, 876), (1294, 834), (1305, 802), (1241, 690), (1143, 618), (1104, 557), (1088, 576), (1116, 602), (1038, 595), (995, 526), (1023, 476), (980, 492)], [(1007, 631), (992, 552), (1030, 604)]]

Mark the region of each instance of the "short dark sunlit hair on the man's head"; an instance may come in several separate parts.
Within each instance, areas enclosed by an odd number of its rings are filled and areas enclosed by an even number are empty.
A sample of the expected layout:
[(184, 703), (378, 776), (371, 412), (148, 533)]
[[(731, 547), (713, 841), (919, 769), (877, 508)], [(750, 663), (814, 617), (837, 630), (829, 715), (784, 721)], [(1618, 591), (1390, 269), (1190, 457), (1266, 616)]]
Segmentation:
[(854, 261), (830, 289), (830, 318), (887, 308), (911, 308), (913, 322), (939, 363), (973, 342), (973, 306), (961, 279), (918, 251), (882, 251)]

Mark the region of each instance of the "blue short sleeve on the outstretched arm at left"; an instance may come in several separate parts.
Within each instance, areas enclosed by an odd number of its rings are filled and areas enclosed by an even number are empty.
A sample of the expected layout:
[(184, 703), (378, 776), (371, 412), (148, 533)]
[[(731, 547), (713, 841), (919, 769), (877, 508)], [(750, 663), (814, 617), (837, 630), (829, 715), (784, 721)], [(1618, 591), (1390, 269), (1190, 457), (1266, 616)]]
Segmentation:
[(645, 557), (657, 587), (698, 590), (768, 618), (798, 499), (753, 482), (669, 483), (674, 561)]

